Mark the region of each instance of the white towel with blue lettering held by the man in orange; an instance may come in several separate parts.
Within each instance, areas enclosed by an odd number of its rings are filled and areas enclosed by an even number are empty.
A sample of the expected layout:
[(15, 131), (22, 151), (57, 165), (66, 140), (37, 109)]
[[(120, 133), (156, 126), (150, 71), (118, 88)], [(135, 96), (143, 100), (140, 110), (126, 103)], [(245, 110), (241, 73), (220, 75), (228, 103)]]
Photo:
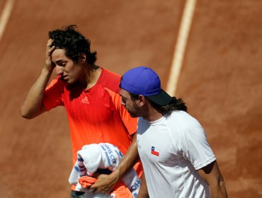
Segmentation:
[[(77, 191), (84, 191), (85, 189), (79, 185), (79, 177), (84, 175), (93, 175), (98, 168), (113, 171), (120, 161), (123, 159), (123, 153), (117, 146), (108, 143), (88, 144), (77, 152), (78, 161), (76, 161), (72, 173), (69, 176), (70, 184), (77, 184)], [(84, 164), (84, 166), (83, 166)], [(133, 197), (137, 197), (140, 188), (140, 179), (134, 168), (129, 170), (122, 178), (124, 184), (132, 192)]]

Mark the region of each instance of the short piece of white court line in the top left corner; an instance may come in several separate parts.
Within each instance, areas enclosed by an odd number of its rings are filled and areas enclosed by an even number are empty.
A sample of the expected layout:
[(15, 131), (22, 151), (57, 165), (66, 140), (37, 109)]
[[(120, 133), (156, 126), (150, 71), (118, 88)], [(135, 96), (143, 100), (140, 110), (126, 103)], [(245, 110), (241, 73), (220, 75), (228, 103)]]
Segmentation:
[(11, 14), (13, 4), (15, 0), (7, 0), (6, 4), (4, 5), (4, 9), (0, 16), (0, 41), (2, 36), (4, 35), (4, 30), (6, 29), (6, 24), (8, 22), (9, 16)]

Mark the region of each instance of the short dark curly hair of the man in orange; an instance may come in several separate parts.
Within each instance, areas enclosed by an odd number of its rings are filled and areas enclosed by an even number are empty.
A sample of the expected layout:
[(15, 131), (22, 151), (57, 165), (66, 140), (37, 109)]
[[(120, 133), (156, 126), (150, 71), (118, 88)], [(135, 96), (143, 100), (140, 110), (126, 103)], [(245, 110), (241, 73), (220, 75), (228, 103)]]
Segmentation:
[(96, 52), (90, 51), (90, 40), (86, 39), (76, 31), (76, 25), (69, 25), (64, 29), (52, 30), (48, 33), (49, 38), (53, 40), (52, 46), (57, 49), (64, 49), (65, 55), (78, 62), (81, 54), (86, 54), (86, 60), (89, 64), (96, 62)]

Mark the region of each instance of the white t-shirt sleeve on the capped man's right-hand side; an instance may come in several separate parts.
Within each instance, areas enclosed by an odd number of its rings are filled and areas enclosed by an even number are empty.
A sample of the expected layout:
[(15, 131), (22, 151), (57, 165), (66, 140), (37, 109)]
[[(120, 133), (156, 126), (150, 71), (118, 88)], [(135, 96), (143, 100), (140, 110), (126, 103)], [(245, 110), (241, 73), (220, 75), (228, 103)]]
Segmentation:
[(215, 161), (215, 155), (207, 142), (205, 131), (195, 120), (182, 133), (183, 156), (193, 164), (195, 170)]

